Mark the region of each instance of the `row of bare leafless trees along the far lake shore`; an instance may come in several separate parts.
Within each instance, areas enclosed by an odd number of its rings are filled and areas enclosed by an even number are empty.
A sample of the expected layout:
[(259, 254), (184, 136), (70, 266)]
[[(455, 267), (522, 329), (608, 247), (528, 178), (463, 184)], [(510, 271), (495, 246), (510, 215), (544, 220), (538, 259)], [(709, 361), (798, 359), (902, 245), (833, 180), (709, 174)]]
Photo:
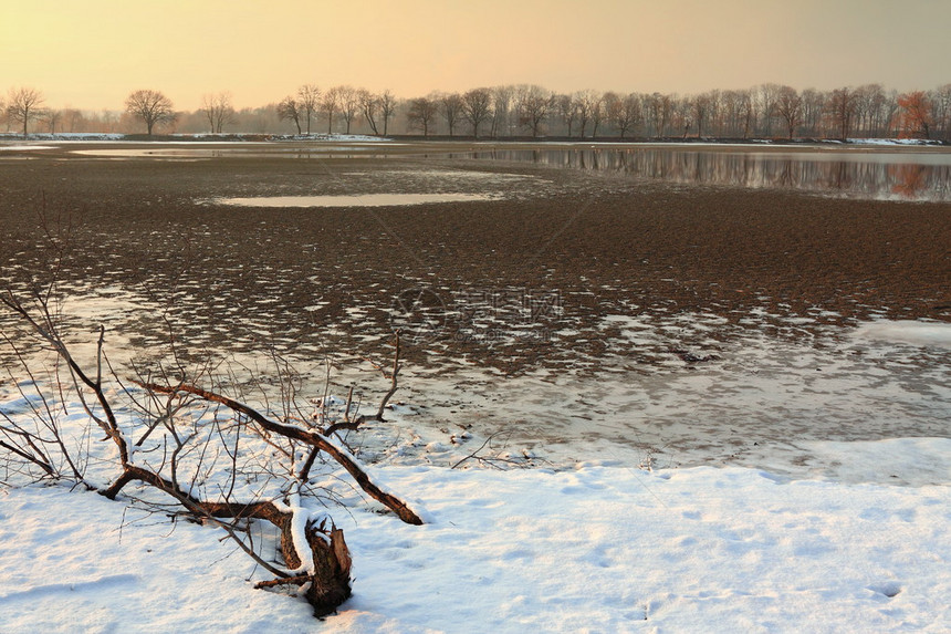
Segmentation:
[(777, 84), (694, 95), (537, 85), (397, 98), (353, 86), (304, 84), (260, 107), (230, 93), (177, 111), (159, 91), (135, 91), (116, 111), (58, 110), (41, 91), (0, 96), (0, 129), (28, 133), (367, 134), (459, 138), (927, 138), (951, 141), (951, 84), (898, 93), (880, 84), (797, 91)]

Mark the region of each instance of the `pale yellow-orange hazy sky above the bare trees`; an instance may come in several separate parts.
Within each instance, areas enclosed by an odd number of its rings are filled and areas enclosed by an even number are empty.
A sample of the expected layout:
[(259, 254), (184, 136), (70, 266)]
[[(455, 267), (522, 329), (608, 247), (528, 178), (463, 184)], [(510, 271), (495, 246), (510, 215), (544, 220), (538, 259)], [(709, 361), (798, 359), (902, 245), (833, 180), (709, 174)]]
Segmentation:
[(311, 83), (414, 97), (500, 84), (697, 94), (951, 83), (951, 0), (0, 0), (0, 95), (123, 110)]

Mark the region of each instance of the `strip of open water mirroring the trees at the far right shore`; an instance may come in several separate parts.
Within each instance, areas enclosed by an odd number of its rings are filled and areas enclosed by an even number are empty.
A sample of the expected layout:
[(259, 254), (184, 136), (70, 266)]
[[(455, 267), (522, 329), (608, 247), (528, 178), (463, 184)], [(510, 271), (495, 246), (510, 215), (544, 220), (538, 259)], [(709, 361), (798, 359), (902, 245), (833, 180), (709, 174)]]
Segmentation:
[(847, 198), (951, 201), (951, 154), (535, 148), (452, 156), (613, 172), (687, 185), (778, 187)]

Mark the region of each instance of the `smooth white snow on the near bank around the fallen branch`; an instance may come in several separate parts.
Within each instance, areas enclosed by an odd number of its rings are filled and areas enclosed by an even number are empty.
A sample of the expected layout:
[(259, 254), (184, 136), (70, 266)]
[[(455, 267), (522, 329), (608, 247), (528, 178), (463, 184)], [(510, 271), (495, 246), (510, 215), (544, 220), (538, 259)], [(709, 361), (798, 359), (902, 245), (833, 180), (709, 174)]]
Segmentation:
[[(884, 441), (890, 451), (902, 440)], [(947, 444), (933, 440), (947, 455)], [(947, 632), (951, 490), (648, 472), (389, 467), (430, 523), (336, 513), (354, 596), (324, 623), (251, 589), (213, 530), (95, 493), (0, 501), (3, 632)]]

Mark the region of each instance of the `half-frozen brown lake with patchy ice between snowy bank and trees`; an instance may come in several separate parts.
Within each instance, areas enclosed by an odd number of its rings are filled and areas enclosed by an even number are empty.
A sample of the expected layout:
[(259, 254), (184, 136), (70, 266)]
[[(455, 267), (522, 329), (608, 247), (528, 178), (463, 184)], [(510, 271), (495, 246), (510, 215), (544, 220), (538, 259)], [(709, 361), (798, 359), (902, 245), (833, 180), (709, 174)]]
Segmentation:
[[(50, 209), (82, 218), (60, 285), (71, 341), (104, 324), (121, 364), (154, 362), (174, 333), (192, 361), (251, 367), (275, 350), (309, 385), (331, 358), (345, 393), (367, 371), (378, 378), (366, 360), (384, 362), (399, 328), (405, 409), (382, 430), (388, 459), (451, 464), (466, 428), (557, 465), (837, 475), (824, 443), (947, 434), (943, 152), (103, 144), (22, 155), (0, 175), (11, 236), (0, 285), (23, 292), (49, 274), (22, 212), (42, 189)], [(921, 187), (901, 180), (915, 175)], [(365, 401), (386, 388), (370, 380)], [(917, 467), (881, 477), (945, 477)]]

